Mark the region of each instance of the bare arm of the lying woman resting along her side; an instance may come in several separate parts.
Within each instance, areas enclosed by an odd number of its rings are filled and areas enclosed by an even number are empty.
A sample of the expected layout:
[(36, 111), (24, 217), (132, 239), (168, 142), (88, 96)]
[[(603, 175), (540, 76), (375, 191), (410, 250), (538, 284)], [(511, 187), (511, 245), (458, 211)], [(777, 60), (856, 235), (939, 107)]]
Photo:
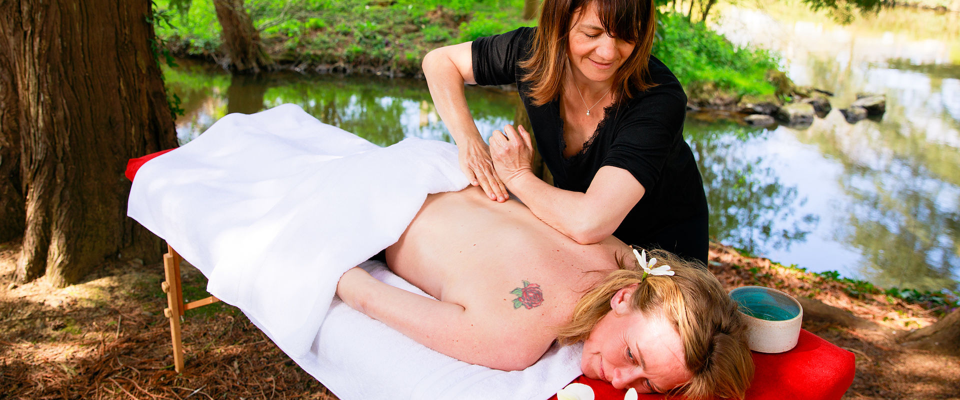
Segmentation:
[(523, 369), (536, 363), (549, 346), (543, 347), (536, 335), (510, 332), (482, 311), (395, 288), (360, 268), (344, 273), (337, 294), (354, 310), (470, 364)]

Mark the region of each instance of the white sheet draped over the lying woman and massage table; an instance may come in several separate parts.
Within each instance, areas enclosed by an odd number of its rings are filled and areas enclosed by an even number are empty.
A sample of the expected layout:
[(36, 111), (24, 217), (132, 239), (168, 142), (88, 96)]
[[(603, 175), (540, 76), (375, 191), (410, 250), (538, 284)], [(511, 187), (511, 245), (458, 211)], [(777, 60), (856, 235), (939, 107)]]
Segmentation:
[(284, 105), (230, 114), (144, 164), (128, 215), (344, 400), (549, 397), (580, 374), (576, 346), (504, 372), (331, 304), (340, 275), (395, 243), (427, 194), (466, 185), (451, 144), (408, 138), (380, 148)]

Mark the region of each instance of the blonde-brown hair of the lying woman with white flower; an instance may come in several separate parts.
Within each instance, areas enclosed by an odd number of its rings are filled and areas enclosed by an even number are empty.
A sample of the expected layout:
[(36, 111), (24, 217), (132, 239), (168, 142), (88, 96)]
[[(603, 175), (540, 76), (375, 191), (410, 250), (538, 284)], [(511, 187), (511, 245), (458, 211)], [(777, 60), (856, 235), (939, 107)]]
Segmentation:
[(673, 276), (648, 275), (636, 261), (619, 257), (612, 271), (577, 303), (570, 322), (560, 328), (558, 341), (585, 341), (601, 318), (611, 311), (611, 299), (633, 284), (631, 309), (662, 312), (684, 342), (684, 362), (693, 377), (671, 394), (693, 400), (717, 395), (743, 398), (754, 376), (754, 361), (747, 346), (747, 325), (736, 303), (720, 282), (697, 262), (689, 262), (663, 250), (653, 250), (657, 265), (669, 265)]

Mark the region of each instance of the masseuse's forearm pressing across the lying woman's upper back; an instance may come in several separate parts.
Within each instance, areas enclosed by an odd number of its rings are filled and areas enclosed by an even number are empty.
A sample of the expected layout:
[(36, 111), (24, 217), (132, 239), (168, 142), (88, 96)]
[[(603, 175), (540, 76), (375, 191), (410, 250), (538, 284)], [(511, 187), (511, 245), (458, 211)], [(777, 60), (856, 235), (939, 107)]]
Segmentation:
[(540, 221), (581, 245), (604, 240), (618, 225), (593, 210), (587, 194), (553, 187), (532, 171), (511, 176), (507, 187)]

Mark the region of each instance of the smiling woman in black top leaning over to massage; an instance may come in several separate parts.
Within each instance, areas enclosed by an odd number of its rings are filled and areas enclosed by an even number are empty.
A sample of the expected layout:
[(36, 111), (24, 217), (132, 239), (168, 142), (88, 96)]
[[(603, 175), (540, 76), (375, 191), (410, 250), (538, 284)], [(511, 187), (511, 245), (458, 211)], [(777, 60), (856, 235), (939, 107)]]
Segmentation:
[[(430, 95), (460, 166), (492, 200), (507, 189), (581, 244), (613, 234), (707, 262), (703, 180), (684, 142), (686, 95), (651, 56), (651, 0), (544, 0), (538, 28), (431, 51)], [(534, 176), (524, 127), (484, 143), (464, 83), (516, 83), (556, 187)]]

